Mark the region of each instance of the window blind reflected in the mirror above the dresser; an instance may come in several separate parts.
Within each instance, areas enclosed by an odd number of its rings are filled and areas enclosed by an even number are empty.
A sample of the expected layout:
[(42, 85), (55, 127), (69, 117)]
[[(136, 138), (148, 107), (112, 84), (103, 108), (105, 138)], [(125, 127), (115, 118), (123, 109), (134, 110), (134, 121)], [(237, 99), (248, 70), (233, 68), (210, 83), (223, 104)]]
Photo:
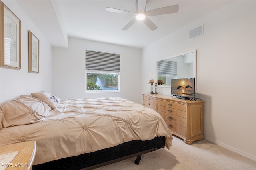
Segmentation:
[(177, 62), (176, 61), (157, 61), (158, 76), (177, 75)]

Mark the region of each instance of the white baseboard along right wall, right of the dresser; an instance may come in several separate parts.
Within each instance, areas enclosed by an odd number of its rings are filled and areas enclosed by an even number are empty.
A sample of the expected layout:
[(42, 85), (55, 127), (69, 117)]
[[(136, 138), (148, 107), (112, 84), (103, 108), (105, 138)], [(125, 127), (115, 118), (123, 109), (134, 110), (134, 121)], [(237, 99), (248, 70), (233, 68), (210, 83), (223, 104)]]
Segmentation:
[(208, 137), (206, 137), (206, 136), (204, 136), (204, 139), (205, 139), (205, 140), (208, 140), (208, 141), (210, 141), (210, 142), (212, 142), (212, 143), (214, 143), (214, 144), (216, 144), (216, 145), (218, 145), (218, 146), (222, 146), (222, 147), (224, 147), (224, 148), (226, 148), (226, 149), (228, 149), (228, 150), (231, 150), (231, 151), (233, 151), (233, 152), (236, 152), (237, 154), (240, 154), (240, 155), (242, 155), (242, 156), (245, 156), (246, 158), (249, 158), (249, 159), (251, 159), (251, 160), (256, 161), (256, 156), (255, 156), (255, 155), (248, 154), (248, 153), (246, 153), (246, 152), (244, 152), (244, 151), (242, 151), (242, 150), (239, 150), (239, 149), (237, 149), (237, 148), (234, 148), (234, 147), (229, 146), (229, 145), (227, 145), (227, 144), (224, 144), (224, 143), (222, 143), (222, 142), (219, 142), (219, 141), (216, 141), (216, 140), (212, 140), (211, 138), (208, 138)]

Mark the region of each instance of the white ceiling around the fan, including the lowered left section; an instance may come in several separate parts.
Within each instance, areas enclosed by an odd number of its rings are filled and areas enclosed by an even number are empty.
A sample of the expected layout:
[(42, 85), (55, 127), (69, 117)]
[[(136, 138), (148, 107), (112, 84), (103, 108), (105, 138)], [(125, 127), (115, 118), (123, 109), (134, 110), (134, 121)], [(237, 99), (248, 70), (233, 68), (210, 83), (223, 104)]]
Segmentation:
[(174, 14), (149, 16), (148, 18), (158, 27), (154, 31), (141, 21), (122, 31), (134, 16), (108, 12), (105, 8), (134, 12), (135, 1), (18, 0), (18, 4), (52, 46), (68, 47), (67, 38), (75, 37), (143, 48), (232, 2), (230, 0), (148, 0), (146, 11), (176, 4), (179, 5), (179, 11)]

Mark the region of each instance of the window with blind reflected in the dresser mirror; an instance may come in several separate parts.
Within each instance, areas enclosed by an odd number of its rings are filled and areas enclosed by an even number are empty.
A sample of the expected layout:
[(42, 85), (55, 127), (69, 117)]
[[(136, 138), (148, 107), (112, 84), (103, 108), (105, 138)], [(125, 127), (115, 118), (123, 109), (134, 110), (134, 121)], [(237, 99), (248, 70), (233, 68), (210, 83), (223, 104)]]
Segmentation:
[(157, 61), (157, 79), (163, 81), (163, 85), (171, 85), (172, 79), (177, 77), (177, 62), (161, 60)]

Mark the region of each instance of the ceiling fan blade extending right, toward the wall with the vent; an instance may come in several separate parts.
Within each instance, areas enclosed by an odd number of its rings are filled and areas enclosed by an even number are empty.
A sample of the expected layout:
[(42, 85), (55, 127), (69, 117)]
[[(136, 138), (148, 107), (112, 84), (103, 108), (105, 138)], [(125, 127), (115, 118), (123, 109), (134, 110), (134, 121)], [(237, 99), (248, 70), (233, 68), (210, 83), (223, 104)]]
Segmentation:
[(171, 14), (176, 13), (179, 10), (179, 5), (172, 5), (172, 6), (166, 6), (163, 8), (157, 8), (154, 10), (149, 10), (145, 12), (146, 16), (155, 16), (155, 15), (162, 15), (162, 14)]

